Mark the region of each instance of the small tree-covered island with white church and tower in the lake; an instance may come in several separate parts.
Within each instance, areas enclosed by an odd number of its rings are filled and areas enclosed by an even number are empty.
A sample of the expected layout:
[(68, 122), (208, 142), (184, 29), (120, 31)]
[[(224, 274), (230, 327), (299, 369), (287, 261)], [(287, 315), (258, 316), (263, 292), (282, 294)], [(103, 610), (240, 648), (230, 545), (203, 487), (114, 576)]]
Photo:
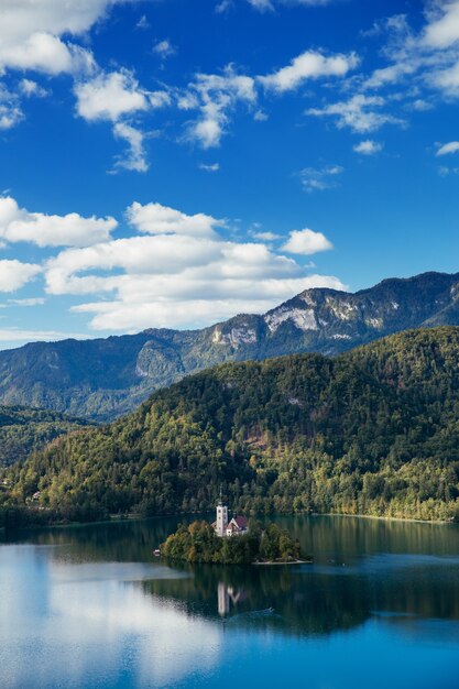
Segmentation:
[(302, 557), (298, 540), (276, 524), (262, 527), (238, 516), (228, 522), (228, 507), (221, 496), (214, 524), (204, 521), (181, 524), (160, 550), (166, 558), (187, 562), (281, 565), (308, 561)]

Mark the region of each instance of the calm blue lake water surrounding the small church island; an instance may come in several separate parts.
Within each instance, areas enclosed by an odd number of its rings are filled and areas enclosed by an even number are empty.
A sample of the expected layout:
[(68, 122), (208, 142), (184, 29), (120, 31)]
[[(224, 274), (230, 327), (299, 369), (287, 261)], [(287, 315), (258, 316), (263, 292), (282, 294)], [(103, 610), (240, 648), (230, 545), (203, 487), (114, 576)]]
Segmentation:
[(0, 536), (0, 687), (459, 687), (458, 526), (278, 522), (314, 565), (167, 566), (177, 520)]

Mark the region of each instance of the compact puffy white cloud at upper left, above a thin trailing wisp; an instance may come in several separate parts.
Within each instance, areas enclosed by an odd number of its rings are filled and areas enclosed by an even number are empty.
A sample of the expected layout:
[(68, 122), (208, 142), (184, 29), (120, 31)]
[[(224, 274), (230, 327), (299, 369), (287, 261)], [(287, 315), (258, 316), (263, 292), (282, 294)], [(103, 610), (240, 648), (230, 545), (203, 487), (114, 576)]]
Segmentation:
[(88, 121), (110, 120), (149, 108), (146, 92), (130, 72), (99, 74), (75, 87), (77, 112)]

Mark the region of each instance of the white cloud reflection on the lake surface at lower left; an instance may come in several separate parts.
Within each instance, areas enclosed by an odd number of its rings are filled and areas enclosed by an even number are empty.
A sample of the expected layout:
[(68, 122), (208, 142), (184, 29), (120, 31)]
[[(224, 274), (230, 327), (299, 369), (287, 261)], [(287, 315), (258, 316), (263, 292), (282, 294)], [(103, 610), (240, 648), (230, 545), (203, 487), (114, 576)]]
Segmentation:
[(55, 549), (0, 549), (1, 686), (170, 687), (214, 667), (220, 630), (135, 586), (184, 576), (161, 565), (69, 565)]

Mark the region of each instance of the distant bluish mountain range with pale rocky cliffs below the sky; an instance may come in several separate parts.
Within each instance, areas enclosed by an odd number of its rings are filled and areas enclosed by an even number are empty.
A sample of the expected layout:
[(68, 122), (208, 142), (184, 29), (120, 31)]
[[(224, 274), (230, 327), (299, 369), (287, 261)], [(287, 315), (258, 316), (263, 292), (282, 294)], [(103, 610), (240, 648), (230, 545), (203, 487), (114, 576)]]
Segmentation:
[(145, 330), (0, 352), (0, 404), (111, 419), (152, 392), (225, 361), (337, 354), (408, 328), (459, 325), (459, 274), (386, 280), (357, 294), (306, 289), (263, 316), (193, 331)]

